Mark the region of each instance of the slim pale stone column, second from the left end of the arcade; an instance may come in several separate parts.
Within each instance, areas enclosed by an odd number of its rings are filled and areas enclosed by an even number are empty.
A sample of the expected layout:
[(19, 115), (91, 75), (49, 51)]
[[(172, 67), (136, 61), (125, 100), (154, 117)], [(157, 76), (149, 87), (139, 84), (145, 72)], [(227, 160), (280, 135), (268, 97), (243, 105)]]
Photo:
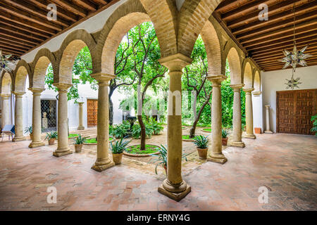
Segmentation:
[(23, 102), (22, 97), (25, 92), (15, 91), (15, 136), (13, 141), (25, 141), (23, 136)]

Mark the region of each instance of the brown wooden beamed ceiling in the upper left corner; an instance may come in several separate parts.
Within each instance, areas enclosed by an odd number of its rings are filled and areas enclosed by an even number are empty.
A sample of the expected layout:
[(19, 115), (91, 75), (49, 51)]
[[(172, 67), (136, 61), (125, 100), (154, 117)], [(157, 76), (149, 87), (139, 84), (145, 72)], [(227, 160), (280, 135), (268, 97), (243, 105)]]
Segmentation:
[[(1, 0), (0, 49), (15, 58), (82, 23), (119, 0)], [(57, 20), (46, 8), (56, 4)]]

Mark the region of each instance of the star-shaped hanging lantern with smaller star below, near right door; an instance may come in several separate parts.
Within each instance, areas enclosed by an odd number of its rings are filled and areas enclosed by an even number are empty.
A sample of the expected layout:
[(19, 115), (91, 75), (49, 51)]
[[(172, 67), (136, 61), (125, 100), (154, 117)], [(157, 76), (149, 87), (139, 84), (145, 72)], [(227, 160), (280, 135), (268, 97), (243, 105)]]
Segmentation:
[(304, 46), (304, 48), (300, 51), (297, 50), (296, 46), (296, 39), (295, 39), (295, 4), (293, 6), (294, 11), (294, 27), (293, 27), (293, 41), (294, 41), (294, 47), (293, 51), (287, 51), (286, 49), (283, 50), (284, 58), (280, 60), (282, 63), (285, 63), (284, 67), (282, 69), (287, 68), (288, 66), (292, 66), (292, 77), (291, 79), (287, 80), (287, 86), (286, 89), (294, 89), (294, 87), (299, 88), (298, 84), (302, 84), (299, 82), (299, 77), (297, 79), (294, 79), (294, 72), (296, 71), (297, 65), (307, 66), (307, 63), (305, 61), (306, 58), (311, 57), (310, 54), (305, 54), (304, 51), (308, 48), (308, 45)]

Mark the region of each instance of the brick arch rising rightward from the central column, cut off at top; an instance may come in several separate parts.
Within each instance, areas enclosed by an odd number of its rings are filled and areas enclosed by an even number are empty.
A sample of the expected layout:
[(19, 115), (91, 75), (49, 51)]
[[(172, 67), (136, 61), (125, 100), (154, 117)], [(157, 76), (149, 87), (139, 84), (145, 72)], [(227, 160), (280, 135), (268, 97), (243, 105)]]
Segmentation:
[(222, 0), (185, 0), (180, 8), (178, 51), (190, 57), (195, 41)]

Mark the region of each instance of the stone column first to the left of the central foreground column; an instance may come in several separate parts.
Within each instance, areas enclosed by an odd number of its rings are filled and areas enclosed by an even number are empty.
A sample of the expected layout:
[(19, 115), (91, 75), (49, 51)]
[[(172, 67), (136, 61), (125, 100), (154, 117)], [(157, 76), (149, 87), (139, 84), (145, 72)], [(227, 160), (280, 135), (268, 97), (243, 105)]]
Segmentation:
[(97, 160), (92, 169), (97, 172), (104, 171), (115, 164), (109, 158), (109, 99), (108, 86), (109, 81), (114, 75), (96, 73), (91, 75), (98, 81), (98, 111), (97, 111)]

